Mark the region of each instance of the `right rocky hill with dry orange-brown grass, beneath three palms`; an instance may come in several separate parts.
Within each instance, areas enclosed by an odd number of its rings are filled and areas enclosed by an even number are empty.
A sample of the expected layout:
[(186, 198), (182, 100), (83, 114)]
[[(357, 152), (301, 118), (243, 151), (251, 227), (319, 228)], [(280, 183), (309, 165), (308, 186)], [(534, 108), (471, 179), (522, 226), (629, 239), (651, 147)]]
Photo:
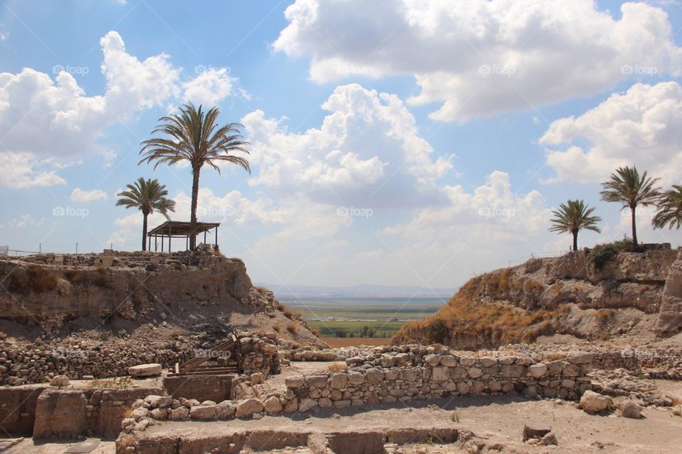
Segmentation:
[(682, 252), (658, 245), (598, 261), (580, 250), (477, 276), (393, 341), (476, 350), (556, 334), (610, 341), (680, 331)]

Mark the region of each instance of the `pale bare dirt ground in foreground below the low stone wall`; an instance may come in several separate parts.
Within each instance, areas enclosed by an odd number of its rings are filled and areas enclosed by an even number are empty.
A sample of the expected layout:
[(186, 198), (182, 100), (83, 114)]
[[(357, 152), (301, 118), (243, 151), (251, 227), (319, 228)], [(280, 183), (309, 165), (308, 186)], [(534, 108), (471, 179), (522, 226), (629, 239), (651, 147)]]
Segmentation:
[[(303, 369), (314, 370), (314, 363)], [(306, 371), (308, 372), (308, 371)], [(666, 392), (682, 394), (681, 382), (657, 381)], [(572, 402), (528, 401), (519, 397), (455, 397), (434, 401), (415, 401), (363, 409), (318, 409), (310, 415), (265, 416), (260, 420), (162, 423), (148, 428), (147, 436), (215, 436), (237, 431), (290, 430), (328, 433), (333, 431), (383, 431), (385, 428), (458, 428), (471, 431), (472, 441), (486, 447), (502, 448), (504, 453), (646, 453), (678, 454), (682, 446), (682, 417), (670, 408), (646, 407), (642, 419), (626, 419), (614, 413), (590, 416)], [(558, 446), (536, 446), (521, 441), (524, 423), (551, 426)], [(8, 454), (64, 453), (72, 443), (34, 443), (27, 438), (6, 450)], [(464, 453), (464, 447), (433, 443), (402, 445), (401, 453)], [(487, 448), (486, 448), (487, 450)], [(272, 451), (275, 452), (275, 451)], [(280, 453), (305, 453), (306, 448), (291, 448)], [(485, 452), (485, 450), (483, 451)], [(493, 452), (493, 451), (490, 451)], [(114, 443), (102, 442), (94, 454), (113, 454)]]

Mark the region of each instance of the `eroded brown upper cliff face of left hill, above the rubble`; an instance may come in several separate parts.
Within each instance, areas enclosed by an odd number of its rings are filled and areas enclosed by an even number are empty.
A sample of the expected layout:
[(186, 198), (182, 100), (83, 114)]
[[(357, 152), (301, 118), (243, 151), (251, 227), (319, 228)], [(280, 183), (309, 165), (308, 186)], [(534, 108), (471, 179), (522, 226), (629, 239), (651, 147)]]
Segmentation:
[(0, 318), (38, 323), (48, 331), (77, 318), (136, 321), (195, 304), (224, 310), (271, 302), (251, 294), (244, 262), (218, 258), (210, 267), (135, 262), (136, 266), (73, 267), (0, 261)]

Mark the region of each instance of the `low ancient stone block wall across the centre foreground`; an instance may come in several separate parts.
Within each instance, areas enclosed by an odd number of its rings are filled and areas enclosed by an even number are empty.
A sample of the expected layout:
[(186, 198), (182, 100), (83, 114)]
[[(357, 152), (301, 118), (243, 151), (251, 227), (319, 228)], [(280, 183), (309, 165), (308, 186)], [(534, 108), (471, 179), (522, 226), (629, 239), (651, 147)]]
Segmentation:
[(534, 362), (527, 356), (460, 357), (454, 354), (384, 353), (381, 366), (286, 380), (285, 411), (315, 406), (343, 408), (410, 399), (524, 392), (576, 399), (590, 388), (590, 353)]

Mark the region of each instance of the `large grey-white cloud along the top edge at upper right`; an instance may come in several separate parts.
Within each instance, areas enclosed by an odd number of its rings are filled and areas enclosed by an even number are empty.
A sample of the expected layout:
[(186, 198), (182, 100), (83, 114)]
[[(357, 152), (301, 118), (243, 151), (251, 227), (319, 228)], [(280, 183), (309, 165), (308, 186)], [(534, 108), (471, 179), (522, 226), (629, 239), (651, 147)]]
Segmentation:
[(443, 103), (433, 118), (462, 121), (679, 74), (666, 13), (644, 3), (621, 13), (592, 0), (297, 0), (274, 48), (310, 57), (318, 82), (410, 74), (413, 104)]

